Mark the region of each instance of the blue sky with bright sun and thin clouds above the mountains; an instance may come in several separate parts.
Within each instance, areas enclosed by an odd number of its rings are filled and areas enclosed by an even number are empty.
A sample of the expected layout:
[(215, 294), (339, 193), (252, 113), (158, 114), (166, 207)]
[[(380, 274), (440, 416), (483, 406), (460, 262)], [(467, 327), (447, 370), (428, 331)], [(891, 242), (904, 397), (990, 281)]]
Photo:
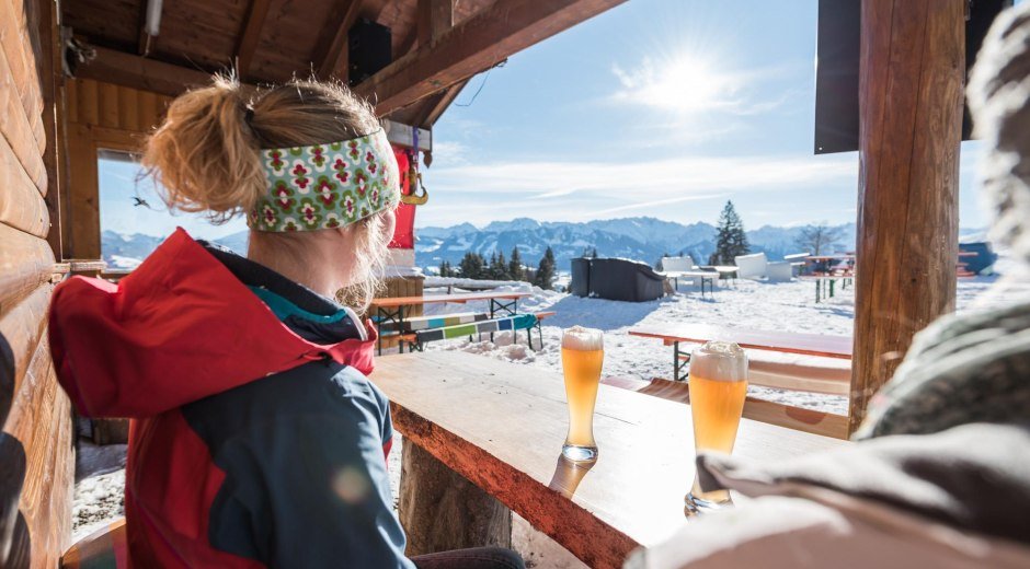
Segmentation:
[[(473, 78), (436, 124), (424, 174), (431, 199), (416, 227), (516, 217), (714, 222), (726, 199), (752, 229), (854, 221), (857, 153), (812, 153), (816, 4), (630, 0), (516, 54), (485, 84)], [(963, 228), (986, 224), (977, 152), (963, 143)], [(133, 208), (131, 166), (104, 171), (104, 229), (158, 234), (184, 224), (219, 236), (243, 228)]]

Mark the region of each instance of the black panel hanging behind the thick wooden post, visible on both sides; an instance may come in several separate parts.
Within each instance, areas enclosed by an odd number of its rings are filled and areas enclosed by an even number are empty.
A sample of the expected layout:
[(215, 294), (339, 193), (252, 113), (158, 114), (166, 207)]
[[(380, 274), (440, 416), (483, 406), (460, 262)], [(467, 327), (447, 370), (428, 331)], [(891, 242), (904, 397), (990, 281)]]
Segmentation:
[[(965, 71), (973, 67), (994, 19), (1012, 0), (972, 0), (965, 22)], [(819, 0), (815, 46), (815, 153), (858, 150), (858, 67), (861, 43), (861, 0)], [(973, 120), (965, 108), (962, 140)]]

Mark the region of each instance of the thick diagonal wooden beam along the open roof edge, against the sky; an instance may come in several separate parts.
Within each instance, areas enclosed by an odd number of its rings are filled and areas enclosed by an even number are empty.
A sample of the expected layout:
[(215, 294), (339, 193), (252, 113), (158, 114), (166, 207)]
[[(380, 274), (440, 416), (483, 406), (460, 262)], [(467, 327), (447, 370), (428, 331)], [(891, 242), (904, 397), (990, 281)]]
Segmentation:
[(408, 106), (625, 0), (507, 0), (470, 16), (355, 88), (379, 115)]

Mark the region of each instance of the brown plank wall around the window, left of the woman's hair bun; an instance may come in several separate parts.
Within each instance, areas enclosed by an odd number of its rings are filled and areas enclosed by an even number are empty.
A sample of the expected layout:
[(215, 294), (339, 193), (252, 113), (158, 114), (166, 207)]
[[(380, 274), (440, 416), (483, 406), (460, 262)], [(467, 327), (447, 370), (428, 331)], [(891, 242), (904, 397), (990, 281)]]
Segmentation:
[(69, 214), (64, 223), (70, 233), (68, 257), (101, 257), (98, 151), (139, 151), (146, 136), (164, 119), (171, 101), (167, 95), (91, 79), (65, 83), (71, 173)]

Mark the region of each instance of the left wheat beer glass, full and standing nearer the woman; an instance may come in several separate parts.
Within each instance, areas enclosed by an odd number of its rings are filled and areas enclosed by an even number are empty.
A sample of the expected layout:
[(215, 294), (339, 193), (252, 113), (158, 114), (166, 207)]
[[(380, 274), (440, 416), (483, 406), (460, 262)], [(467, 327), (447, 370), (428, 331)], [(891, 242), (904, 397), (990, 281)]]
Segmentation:
[(594, 403), (604, 360), (605, 340), (600, 330), (573, 326), (562, 333), (561, 369), (569, 399), (569, 434), (561, 453), (570, 461), (597, 460)]

